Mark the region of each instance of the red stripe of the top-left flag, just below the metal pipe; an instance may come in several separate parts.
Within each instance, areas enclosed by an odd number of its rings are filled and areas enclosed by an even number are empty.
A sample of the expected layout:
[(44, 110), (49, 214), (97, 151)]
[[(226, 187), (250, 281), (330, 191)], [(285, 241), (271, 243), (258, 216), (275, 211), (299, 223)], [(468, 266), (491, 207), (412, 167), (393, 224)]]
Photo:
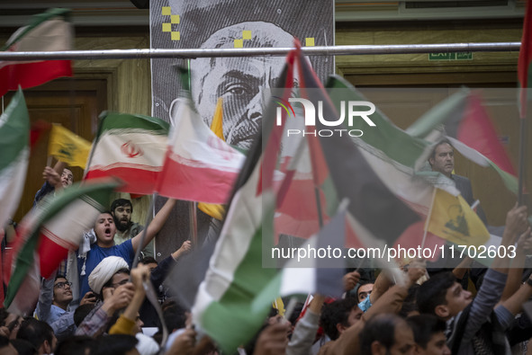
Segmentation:
[(70, 60), (12, 64), (0, 68), (0, 96), (9, 90), (41, 85), (60, 76), (72, 76)]

